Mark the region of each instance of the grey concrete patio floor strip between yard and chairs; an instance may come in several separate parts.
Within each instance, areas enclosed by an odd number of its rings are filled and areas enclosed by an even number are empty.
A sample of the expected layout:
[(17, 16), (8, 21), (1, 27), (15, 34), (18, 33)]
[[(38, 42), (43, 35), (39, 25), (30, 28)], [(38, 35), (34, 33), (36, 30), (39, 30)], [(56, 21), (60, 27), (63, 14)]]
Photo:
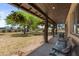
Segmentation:
[(49, 56), (49, 53), (51, 52), (51, 49), (56, 42), (58, 37), (51, 38), (49, 41), (49, 44), (43, 44), (41, 47), (37, 48), (35, 51), (33, 51), (29, 56)]

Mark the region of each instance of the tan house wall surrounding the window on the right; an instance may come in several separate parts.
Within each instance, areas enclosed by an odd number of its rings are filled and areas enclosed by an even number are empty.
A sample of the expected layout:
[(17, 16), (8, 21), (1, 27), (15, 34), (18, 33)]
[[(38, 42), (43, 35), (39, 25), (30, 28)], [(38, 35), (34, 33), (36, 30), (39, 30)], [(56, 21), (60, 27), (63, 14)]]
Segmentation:
[(75, 42), (77, 44), (79, 44), (79, 37), (76, 36), (75, 34), (73, 34), (73, 19), (74, 19), (74, 11), (77, 7), (77, 3), (73, 3), (71, 4), (71, 7), (70, 7), (70, 10), (69, 10), (69, 13), (68, 13), (68, 16), (66, 18), (66, 32), (67, 32), (67, 36), (68, 37), (71, 37), (73, 40), (75, 40)]

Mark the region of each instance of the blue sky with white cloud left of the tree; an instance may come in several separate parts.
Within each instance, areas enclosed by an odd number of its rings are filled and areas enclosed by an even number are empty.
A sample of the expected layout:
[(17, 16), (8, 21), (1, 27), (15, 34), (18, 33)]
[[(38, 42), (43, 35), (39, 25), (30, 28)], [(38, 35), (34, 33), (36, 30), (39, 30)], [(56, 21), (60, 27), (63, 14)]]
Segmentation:
[(5, 27), (7, 24), (5, 22), (5, 18), (11, 11), (18, 10), (17, 7), (7, 4), (7, 3), (0, 3), (0, 27)]

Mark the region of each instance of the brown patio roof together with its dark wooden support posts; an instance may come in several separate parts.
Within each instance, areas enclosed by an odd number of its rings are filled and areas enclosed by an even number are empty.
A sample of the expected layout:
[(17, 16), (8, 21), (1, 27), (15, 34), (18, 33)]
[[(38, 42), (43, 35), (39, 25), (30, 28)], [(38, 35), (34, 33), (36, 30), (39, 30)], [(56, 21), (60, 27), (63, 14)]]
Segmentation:
[(12, 3), (12, 5), (44, 20), (44, 40), (48, 43), (48, 23), (52, 25), (52, 36), (54, 36), (57, 34), (57, 24), (65, 23), (71, 4)]

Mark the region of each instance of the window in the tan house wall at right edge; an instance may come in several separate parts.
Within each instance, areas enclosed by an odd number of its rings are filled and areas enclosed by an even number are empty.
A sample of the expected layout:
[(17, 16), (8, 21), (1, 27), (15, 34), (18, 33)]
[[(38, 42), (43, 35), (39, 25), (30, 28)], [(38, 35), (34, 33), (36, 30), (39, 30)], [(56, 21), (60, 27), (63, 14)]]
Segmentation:
[(76, 35), (79, 35), (79, 4), (76, 7), (74, 13), (73, 13), (73, 33)]

